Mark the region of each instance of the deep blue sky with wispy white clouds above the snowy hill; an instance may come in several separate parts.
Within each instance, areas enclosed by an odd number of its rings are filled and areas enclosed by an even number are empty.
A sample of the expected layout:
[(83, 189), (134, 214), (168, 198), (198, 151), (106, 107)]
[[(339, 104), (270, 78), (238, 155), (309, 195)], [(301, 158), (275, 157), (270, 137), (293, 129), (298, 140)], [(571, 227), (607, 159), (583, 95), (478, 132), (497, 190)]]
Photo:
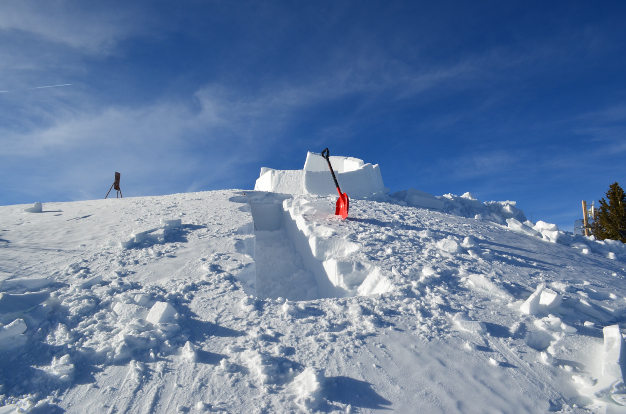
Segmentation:
[[(254, 187), (306, 151), (572, 230), (626, 185), (626, 3), (0, 3), (0, 204)], [(39, 86), (69, 84), (56, 88)]]

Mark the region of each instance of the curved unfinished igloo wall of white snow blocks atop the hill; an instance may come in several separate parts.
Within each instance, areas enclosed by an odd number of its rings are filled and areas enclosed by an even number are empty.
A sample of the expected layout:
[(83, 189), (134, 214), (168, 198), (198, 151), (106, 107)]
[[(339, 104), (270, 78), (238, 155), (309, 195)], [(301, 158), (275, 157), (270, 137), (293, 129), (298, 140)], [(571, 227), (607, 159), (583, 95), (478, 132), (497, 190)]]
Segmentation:
[[(365, 164), (362, 159), (331, 156), (341, 191), (352, 198), (376, 198), (389, 193), (382, 182), (378, 164)], [(304, 169), (261, 168), (254, 186), (257, 191), (285, 194), (333, 195), (337, 193), (326, 159), (321, 154), (307, 153)]]

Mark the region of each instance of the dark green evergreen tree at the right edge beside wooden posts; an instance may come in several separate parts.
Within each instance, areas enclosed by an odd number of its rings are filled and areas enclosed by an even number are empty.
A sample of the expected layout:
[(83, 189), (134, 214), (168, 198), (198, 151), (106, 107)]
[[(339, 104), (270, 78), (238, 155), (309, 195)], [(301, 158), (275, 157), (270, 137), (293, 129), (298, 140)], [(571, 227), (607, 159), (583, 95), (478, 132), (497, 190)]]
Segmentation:
[(617, 182), (608, 186), (608, 201), (602, 198), (591, 225), (597, 240), (613, 239), (626, 243), (626, 237), (618, 230), (626, 231), (626, 194)]

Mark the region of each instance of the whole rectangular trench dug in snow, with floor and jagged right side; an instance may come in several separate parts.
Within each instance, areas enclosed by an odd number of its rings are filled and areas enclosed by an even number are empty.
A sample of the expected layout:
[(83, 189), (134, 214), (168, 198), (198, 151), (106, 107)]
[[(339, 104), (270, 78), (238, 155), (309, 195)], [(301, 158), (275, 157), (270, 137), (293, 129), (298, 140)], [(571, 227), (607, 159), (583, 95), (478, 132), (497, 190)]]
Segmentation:
[[(279, 204), (279, 202), (282, 203)], [(351, 260), (359, 246), (328, 225), (328, 203), (250, 199), (254, 220), (256, 295), (292, 301), (385, 293), (391, 282), (377, 266)]]

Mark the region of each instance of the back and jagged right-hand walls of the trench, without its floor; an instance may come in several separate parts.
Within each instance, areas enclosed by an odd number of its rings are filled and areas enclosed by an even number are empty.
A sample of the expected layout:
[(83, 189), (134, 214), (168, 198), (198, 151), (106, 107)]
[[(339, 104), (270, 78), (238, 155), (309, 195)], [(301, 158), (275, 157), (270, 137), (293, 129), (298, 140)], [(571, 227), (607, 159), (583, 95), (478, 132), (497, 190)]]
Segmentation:
[(255, 230), (284, 228), (287, 231), (295, 250), (302, 256), (305, 270), (315, 276), (318, 298), (375, 295), (393, 288), (377, 266), (351, 257), (359, 245), (332, 228), (328, 218), (333, 212), (328, 203), (312, 203), (303, 198), (284, 199), (282, 204), (276, 204), (275, 200), (268, 203), (267, 198), (264, 201), (250, 201)]

